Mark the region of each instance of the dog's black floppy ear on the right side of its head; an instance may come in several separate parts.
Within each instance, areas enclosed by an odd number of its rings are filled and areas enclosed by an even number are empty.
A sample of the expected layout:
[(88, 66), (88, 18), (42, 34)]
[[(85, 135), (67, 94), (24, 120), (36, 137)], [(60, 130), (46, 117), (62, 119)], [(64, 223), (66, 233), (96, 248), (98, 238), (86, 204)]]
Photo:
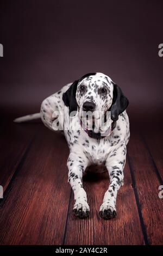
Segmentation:
[(112, 99), (112, 105), (111, 105), (111, 119), (113, 121), (118, 120), (118, 115), (121, 114), (128, 106), (129, 101), (126, 96), (122, 93), (122, 90), (120, 87), (117, 86), (117, 84), (113, 83), (114, 89), (113, 89), (113, 99)]

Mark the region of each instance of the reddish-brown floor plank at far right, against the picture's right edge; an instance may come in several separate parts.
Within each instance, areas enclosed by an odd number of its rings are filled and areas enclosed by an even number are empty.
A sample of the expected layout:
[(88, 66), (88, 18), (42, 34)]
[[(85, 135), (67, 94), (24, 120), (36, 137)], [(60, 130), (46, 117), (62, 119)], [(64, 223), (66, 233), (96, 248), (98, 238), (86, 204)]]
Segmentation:
[(161, 245), (163, 243), (163, 200), (158, 196), (160, 182), (153, 161), (138, 134), (131, 136), (128, 149), (130, 166), (147, 233), (147, 242), (150, 245)]

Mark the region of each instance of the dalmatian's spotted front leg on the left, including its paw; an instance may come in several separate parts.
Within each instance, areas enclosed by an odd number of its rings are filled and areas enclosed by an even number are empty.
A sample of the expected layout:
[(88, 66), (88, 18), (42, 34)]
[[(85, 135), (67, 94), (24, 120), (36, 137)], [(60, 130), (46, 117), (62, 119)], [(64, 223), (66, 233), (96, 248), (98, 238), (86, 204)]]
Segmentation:
[(86, 192), (83, 188), (82, 177), (87, 167), (87, 159), (84, 155), (70, 153), (67, 161), (68, 182), (74, 192), (74, 215), (85, 218), (89, 216), (90, 208), (87, 204)]

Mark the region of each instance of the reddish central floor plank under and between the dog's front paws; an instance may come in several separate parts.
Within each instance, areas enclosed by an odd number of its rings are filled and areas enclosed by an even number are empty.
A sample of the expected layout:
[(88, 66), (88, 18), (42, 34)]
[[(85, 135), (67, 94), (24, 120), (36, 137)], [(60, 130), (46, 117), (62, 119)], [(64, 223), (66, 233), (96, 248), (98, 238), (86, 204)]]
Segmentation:
[(107, 172), (85, 176), (84, 188), (90, 204), (90, 217), (79, 220), (73, 216), (74, 200), (71, 200), (65, 235), (66, 245), (142, 245), (144, 243), (128, 163), (124, 170), (124, 185), (118, 192), (117, 217), (109, 221), (103, 220), (98, 213), (108, 185)]

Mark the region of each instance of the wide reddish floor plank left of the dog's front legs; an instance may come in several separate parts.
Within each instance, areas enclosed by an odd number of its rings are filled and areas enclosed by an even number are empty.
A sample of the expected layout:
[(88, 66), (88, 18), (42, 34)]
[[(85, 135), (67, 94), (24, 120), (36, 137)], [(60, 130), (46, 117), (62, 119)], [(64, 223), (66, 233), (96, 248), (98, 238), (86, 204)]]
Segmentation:
[(42, 124), (1, 202), (1, 245), (60, 245), (70, 186), (64, 136)]

